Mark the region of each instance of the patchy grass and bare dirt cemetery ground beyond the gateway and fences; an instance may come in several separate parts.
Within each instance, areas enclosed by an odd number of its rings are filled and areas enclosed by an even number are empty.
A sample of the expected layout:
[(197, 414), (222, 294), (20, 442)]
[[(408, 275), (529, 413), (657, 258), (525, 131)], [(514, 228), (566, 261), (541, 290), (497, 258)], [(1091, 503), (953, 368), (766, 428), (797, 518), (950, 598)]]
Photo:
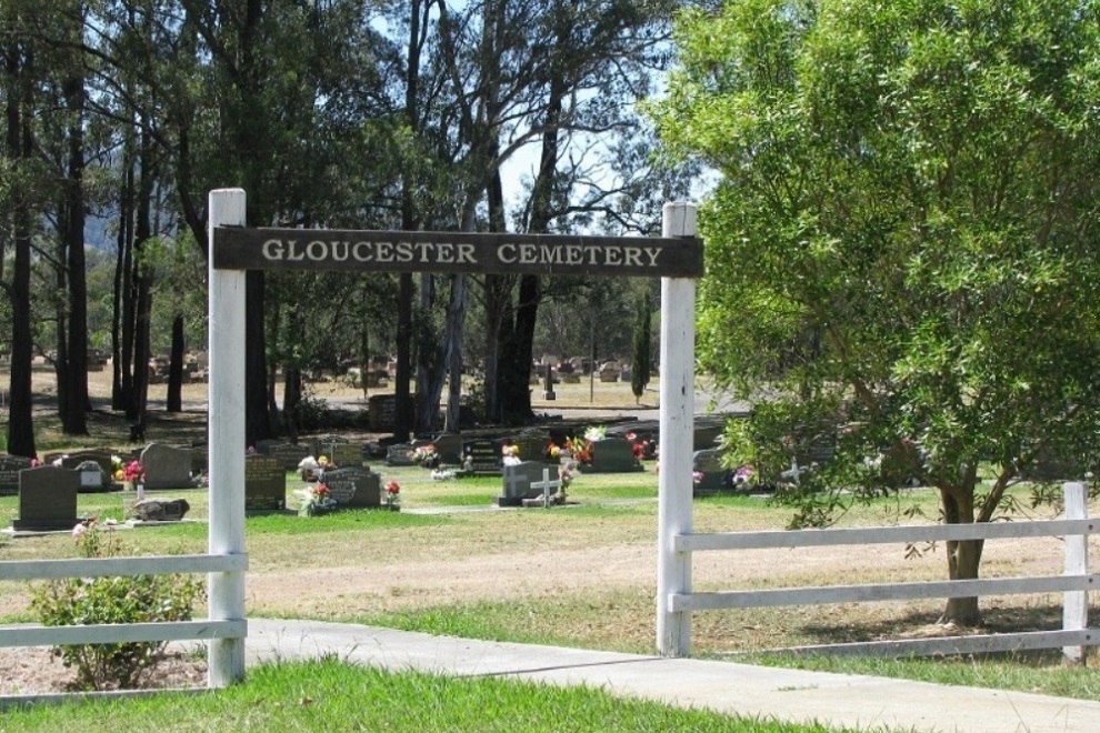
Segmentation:
[[(196, 386), (202, 390), (197, 394), (204, 398), (204, 385)], [(629, 385), (624, 389), (629, 394)], [(156, 418), (149, 426), (153, 431), (150, 440), (179, 443), (203, 432), (200, 410), (170, 419), (157, 413)], [(106, 413), (100, 419), (103, 425), (120, 422)], [(44, 425), (44, 412), (42, 422)], [(90, 428), (97, 433), (100, 424)], [(178, 439), (169, 441), (161, 430)], [(121, 445), (121, 435), (96, 434), (94, 444)], [(63, 446), (40, 450), (56, 448)], [(652, 462), (639, 473), (583, 474), (569, 492), (577, 505), (550, 510), (490, 509), (492, 499), (501, 493), (499, 478), (432, 481), (419, 466), (372, 468), (384, 481), (401, 484), (401, 512), (349, 511), (320, 518), (272, 514), (247, 520), (249, 616), (310, 617), (474, 639), (652, 653), (657, 572), (657, 474)], [(292, 505), (292, 492), (301, 485), (288, 474)], [(163, 494), (188, 500), (189, 521), (126, 530), (126, 541), (141, 553), (204, 552), (206, 491)], [(1018, 496), (1019, 513), (1050, 515), (1049, 511), (1043, 514), (1023, 509), (1026, 489), (1019, 489)], [(78, 512), (121, 519), (124, 502), (132, 498), (126, 492), (80, 494)], [(17, 501), (0, 498), (0, 526), (10, 525)], [(841, 523), (906, 522), (909, 520), (901, 512), (913, 502), (932, 518), (929, 521), (937, 516), (934, 494), (916, 490), (900, 499), (853, 509)], [(1090, 511), (1094, 514), (1097, 508)], [(789, 510), (761, 498), (694, 501), (694, 529), (700, 532), (782, 529), (789, 518)], [(693, 582), (706, 591), (942, 580), (943, 548), (919, 550), (919, 555), (908, 558), (904, 548), (893, 545), (870, 552), (823, 548), (702, 553), (694, 559)], [(73, 555), (68, 533), (19, 539), (0, 535), (3, 560)], [(990, 541), (983, 555), (983, 576), (1058, 574), (1061, 562), (1062, 548), (1056, 539)], [(0, 582), (0, 622), (32, 621), (29, 599), (28, 584)], [(987, 598), (982, 600), (986, 627), (976, 631), (1058, 627), (1060, 603), (1057, 594)], [(936, 621), (941, 605), (941, 601), (927, 601), (697, 613), (692, 652), (720, 659), (756, 653), (763, 654), (766, 663), (1100, 696), (1100, 670), (1094, 662), (1083, 670), (1067, 670), (1057, 652), (906, 663), (796, 662), (767, 653), (800, 644), (940, 634), (943, 630)], [(10, 651), (0, 650), (0, 681), (16, 680), (13, 675), (19, 672)], [(57, 685), (58, 680), (50, 683)], [(0, 689), (0, 694), (10, 691)]]

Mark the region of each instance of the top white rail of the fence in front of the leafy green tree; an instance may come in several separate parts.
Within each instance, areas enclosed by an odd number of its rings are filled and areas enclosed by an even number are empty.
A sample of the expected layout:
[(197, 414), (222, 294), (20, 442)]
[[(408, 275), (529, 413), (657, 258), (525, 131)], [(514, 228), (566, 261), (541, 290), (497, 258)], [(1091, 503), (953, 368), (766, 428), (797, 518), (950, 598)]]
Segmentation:
[[(996, 540), (1093, 534), (1097, 523), (1088, 519), (1036, 520), (1028, 522), (979, 522), (976, 524), (907, 524), (843, 530), (776, 530), (687, 534), (673, 540), (681, 552), (709, 550), (761, 550), (817, 548), (844, 544), (888, 544), (948, 540)], [(1087, 571), (1084, 571), (1087, 572)]]

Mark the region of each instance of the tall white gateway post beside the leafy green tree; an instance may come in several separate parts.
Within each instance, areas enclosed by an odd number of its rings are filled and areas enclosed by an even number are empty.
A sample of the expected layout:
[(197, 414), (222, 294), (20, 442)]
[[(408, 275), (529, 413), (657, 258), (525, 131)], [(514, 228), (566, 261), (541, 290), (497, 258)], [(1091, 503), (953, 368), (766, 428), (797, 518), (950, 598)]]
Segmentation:
[[(666, 203), (663, 237), (694, 237), (696, 207)], [(687, 656), (691, 612), (671, 612), (669, 594), (691, 591), (691, 554), (672, 540), (691, 532), (694, 428), (696, 281), (661, 279), (661, 424), (657, 529), (657, 651)]]

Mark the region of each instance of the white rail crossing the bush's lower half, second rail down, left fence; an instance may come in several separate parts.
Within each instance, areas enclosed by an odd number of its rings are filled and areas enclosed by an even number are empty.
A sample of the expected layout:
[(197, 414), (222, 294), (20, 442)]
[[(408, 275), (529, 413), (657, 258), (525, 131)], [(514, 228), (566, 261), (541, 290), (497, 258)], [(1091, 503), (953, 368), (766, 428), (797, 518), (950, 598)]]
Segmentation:
[(0, 646), (62, 646), (123, 642), (243, 639), (247, 621), (172, 621), (162, 623), (90, 624), (87, 626), (19, 626), (0, 630)]

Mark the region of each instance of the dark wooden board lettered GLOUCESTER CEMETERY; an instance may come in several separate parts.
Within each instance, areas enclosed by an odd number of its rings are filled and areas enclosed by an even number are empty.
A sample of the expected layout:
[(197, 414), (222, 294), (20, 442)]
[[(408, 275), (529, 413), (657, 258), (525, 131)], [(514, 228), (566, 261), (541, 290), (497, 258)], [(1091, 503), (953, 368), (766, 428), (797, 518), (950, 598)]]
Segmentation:
[(566, 237), (217, 227), (218, 270), (489, 272), (698, 278), (693, 237)]

